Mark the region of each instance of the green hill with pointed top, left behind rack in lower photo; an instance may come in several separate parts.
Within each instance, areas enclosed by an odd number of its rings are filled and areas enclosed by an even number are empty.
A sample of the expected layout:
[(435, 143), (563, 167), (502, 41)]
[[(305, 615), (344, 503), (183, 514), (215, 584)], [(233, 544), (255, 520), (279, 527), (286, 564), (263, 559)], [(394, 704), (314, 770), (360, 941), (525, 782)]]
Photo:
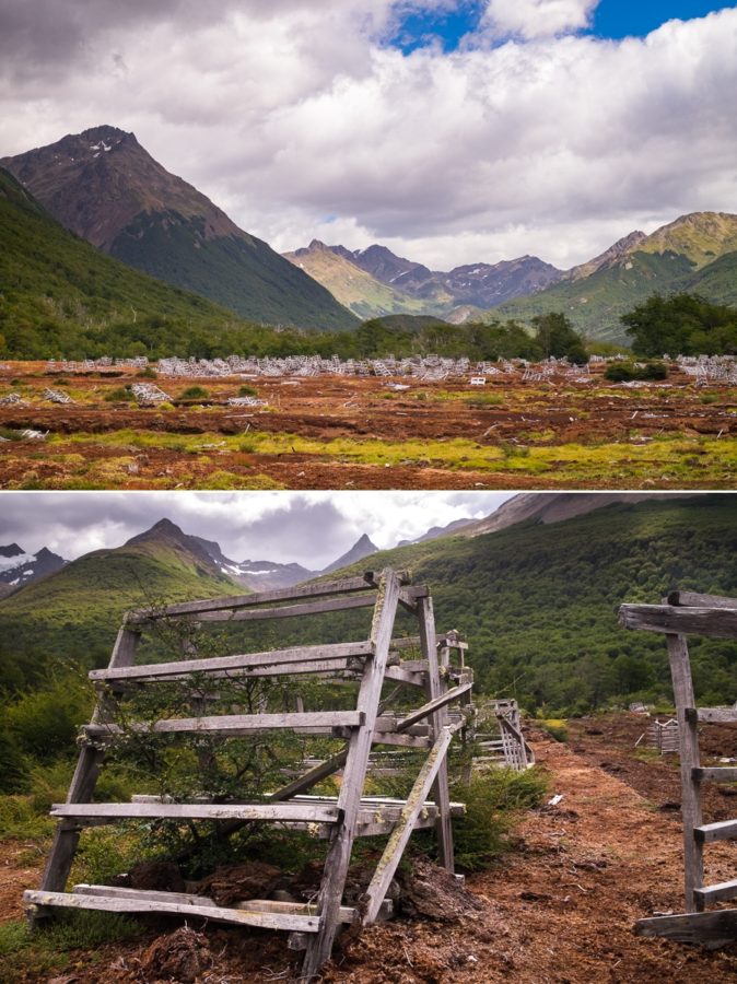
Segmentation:
[(51, 666), (103, 666), (124, 612), (247, 594), (166, 520), (124, 547), (96, 550), (0, 599), (0, 689), (40, 682)]

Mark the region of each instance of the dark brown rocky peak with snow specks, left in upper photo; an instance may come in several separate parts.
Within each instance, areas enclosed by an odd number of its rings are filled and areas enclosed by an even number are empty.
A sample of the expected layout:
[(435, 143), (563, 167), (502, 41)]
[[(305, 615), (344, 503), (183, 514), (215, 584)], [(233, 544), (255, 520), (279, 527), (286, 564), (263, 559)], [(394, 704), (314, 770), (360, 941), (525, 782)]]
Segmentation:
[(94, 127), (0, 165), (78, 236), (241, 317), (325, 330), (355, 324), (324, 286), (169, 174), (133, 133)]

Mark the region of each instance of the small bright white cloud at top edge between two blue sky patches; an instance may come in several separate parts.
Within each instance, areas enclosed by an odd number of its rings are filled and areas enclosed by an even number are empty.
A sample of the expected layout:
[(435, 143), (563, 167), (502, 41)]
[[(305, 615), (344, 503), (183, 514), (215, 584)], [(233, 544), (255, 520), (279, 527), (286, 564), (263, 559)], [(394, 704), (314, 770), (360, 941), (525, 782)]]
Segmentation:
[(599, 0), (489, 0), (483, 26), (494, 34), (552, 37), (587, 27)]

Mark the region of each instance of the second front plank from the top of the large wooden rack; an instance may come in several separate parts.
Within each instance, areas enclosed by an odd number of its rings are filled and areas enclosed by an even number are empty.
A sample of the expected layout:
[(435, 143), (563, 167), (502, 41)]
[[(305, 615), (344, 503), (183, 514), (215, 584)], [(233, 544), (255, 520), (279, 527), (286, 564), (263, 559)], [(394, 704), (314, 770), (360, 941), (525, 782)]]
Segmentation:
[[(214, 671), (234, 672), (261, 667), (321, 663), (332, 659), (347, 659), (372, 654), (370, 642), (337, 643), (325, 646), (296, 646), (289, 649), (271, 649), (264, 653), (244, 653), (233, 656), (212, 656), (208, 659), (184, 659), (177, 663), (156, 663), (141, 666), (116, 667), (113, 669), (91, 670), (90, 679), (97, 681), (153, 681), (167, 680), (189, 673), (211, 673)], [(286, 670), (290, 672), (291, 670)]]

